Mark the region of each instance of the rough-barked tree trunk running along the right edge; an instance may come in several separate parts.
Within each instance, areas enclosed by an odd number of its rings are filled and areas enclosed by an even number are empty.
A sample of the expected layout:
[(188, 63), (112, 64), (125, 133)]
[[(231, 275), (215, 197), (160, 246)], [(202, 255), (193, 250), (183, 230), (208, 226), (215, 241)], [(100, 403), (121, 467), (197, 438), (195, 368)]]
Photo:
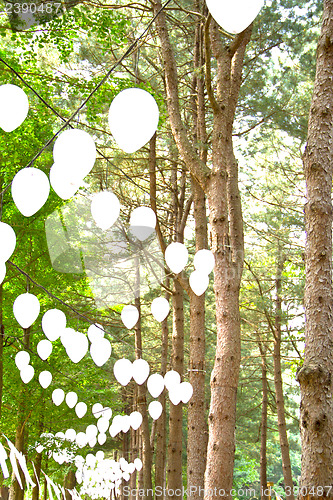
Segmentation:
[[(324, 0), (317, 70), (303, 157), (306, 287), (305, 352), (301, 387), (302, 472), (300, 497), (333, 498), (333, 0)], [(331, 489), (329, 489), (331, 488)]]

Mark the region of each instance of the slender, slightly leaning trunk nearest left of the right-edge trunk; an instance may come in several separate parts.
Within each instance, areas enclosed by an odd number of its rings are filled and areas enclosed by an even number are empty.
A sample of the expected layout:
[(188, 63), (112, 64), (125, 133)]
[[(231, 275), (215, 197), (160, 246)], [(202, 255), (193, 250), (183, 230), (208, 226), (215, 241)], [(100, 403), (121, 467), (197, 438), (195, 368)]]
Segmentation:
[(282, 369), (281, 369), (281, 318), (282, 318), (281, 292), (282, 292), (283, 266), (284, 266), (284, 257), (281, 255), (281, 251), (279, 249), (276, 278), (275, 278), (276, 298), (275, 298), (274, 354), (273, 354), (274, 386), (275, 386), (276, 411), (278, 417), (278, 429), (279, 429), (280, 448), (282, 457), (282, 470), (283, 470), (286, 498), (288, 500), (294, 500), (293, 478), (291, 474), (291, 463), (289, 455), (289, 442), (288, 442), (287, 425), (285, 417)]

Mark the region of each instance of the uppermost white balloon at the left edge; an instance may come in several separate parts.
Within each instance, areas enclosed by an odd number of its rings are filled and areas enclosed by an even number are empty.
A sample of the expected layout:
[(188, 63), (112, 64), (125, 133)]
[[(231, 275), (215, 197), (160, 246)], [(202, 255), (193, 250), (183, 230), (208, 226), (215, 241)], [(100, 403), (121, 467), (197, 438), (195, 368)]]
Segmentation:
[(16, 85), (6, 83), (0, 86), (0, 127), (12, 132), (27, 117), (29, 101), (26, 93)]

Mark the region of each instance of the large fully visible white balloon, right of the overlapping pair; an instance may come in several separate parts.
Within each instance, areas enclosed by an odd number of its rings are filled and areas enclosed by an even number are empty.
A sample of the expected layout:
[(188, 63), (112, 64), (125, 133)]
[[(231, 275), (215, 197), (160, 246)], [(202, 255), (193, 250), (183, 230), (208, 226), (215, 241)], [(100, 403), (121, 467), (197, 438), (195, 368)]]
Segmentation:
[(118, 146), (134, 153), (154, 135), (159, 120), (155, 99), (145, 90), (122, 90), (112, 101), (109, 126)]

